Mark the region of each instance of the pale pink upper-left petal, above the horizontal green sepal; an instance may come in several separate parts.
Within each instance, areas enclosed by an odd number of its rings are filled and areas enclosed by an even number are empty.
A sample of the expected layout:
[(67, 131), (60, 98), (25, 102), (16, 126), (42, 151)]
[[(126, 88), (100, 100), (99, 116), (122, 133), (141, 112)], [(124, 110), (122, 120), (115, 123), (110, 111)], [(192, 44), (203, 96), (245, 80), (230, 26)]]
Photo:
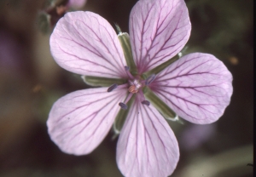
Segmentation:
[(107, 20), (91, 12), (70, 12), (50, 40), (55, 61), (67, 71), (96, 77), (125, 77), (125, 56)]

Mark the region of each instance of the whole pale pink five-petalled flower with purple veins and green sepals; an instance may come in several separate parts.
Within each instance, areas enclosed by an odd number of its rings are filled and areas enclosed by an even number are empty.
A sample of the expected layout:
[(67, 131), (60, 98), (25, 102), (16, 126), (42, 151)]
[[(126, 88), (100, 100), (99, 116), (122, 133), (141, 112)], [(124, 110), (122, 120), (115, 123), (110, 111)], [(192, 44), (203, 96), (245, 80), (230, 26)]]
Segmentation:
[(127, 33), (117, 36), (98, 14), (65, 14), (49, 41), (55, 61), (86, 76), (86, 83), (108, 87), (57, 100), (47, 121), (51, 140), (68, 154), (88, 154), (114, 124), (120, 130), (117, 163), (122, 174), (172, 174), (179, 150), (164, 117), (215, 122), (230, 104), (233, 89), (230, 71), (212, 54), (174, 57), (190, 30), (183, 0), (138, 1), (131, 10), (130, 39)]

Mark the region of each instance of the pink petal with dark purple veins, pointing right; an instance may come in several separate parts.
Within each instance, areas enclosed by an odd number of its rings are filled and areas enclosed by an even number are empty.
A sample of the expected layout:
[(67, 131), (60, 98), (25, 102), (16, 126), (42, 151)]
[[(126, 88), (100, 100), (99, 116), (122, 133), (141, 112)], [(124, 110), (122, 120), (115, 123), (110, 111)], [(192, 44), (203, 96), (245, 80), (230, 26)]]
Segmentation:
[(232, 75), (223, 62), (201, 53), (175, 61), (151, 88), (178, 116), (199, 124), (217, 121), (233, 93)]

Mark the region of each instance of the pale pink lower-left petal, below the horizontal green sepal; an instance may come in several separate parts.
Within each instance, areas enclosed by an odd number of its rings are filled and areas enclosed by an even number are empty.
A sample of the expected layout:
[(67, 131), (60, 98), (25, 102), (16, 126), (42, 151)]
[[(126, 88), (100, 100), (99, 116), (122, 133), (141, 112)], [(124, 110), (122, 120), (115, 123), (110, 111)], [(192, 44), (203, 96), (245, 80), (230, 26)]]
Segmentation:
[(126, 90), (107, 92), (90, 88), (67, 94), (57, 100), (47, 121), (51, 140), (68, 154), (84, 155), (93, 151), (113, 125), (125, 100)]

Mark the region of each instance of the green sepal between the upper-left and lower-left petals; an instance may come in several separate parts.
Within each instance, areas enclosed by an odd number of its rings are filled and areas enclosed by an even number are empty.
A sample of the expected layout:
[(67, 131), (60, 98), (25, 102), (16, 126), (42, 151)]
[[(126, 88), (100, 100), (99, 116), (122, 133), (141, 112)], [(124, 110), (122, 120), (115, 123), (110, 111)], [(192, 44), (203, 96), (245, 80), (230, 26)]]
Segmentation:
[(84, 83), (93, 86), (93, 87), (110, 87), (113, 83), (118, 85), (127, 83), (127, 80), (124, 78), (108, 78), (108, 77), (91, 77), (91, 76), (82, 76)]

